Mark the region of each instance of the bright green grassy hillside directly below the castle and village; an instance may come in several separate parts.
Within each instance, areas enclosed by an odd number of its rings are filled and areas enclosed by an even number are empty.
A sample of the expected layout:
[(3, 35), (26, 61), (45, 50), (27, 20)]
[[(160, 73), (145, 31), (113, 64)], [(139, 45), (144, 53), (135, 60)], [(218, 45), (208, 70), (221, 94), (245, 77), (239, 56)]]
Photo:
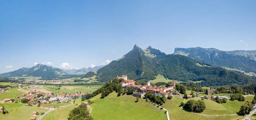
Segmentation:
[(135, 103), (136, 98), (131, 95), (116, 97), (113, 92), (104, 99), (100, 95), (91, 98), (94, 103), (91, 115), (94, 120), (166, 120), (165, 111), (160, 110), (151, 103), (140, 99)]

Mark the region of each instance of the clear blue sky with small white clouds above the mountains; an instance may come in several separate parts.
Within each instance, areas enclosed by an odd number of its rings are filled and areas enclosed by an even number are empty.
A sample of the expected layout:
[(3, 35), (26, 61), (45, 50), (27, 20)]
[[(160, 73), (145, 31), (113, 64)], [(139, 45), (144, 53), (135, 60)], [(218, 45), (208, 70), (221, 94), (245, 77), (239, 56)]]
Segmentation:
[[(107, 64), (135, 44), (256, 50), (256, 1), (0, 0), (0, 73)], [(64, 63), (64, 64), (63, 64)]]

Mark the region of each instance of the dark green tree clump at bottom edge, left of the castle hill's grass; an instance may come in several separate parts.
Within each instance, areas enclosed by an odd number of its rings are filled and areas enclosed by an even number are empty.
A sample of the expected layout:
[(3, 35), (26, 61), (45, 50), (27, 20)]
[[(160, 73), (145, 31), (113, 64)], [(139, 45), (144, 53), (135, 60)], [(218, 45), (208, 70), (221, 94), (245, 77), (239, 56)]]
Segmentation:
[(74, 108), (67, 117), (68, 120), (93, 120), (90, 113), (87, 111), (87, 106), (81, 104)]

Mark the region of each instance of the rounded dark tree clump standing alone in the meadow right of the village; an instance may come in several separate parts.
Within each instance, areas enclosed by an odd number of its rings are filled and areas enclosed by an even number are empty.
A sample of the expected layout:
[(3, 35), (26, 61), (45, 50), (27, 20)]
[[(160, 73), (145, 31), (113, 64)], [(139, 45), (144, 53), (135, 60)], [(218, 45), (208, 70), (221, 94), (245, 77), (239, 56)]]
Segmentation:
[[(182, 103), (180, 103), (181, 105)], [(187, 109), (192, 112), (203, 112), (206, 109), (205, 103), (202, 100), (188, 100), (185, 105), (183, 106), (184, 109)]]

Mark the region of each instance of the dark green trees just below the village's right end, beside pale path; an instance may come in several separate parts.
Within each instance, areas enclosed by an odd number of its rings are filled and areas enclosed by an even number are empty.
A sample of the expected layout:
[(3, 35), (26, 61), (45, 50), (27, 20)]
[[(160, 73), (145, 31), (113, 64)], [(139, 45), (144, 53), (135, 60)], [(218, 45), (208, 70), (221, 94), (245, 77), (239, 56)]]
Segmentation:
[(145, 98), (148, 98), (148, 100), (151, 100), (151, 102), (157, 103), (158, 105), (163, 105), (163, 103), (166, 102), (165, 96), (157, 96), (152, 94), (150, 91), (146, 92)]

